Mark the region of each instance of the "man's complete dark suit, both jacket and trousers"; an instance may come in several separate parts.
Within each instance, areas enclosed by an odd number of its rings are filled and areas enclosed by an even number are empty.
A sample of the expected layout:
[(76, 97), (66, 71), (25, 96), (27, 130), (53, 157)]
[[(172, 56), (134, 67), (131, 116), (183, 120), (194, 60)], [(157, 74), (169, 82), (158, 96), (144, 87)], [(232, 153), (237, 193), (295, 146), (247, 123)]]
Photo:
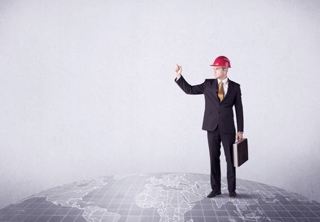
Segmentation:
[(218, 79), (206, 79), (203, 84), (191, 86), (181, 76), (176, 84), (186, 94), (204, 94), (206, 107), (202, 129), (208, 131), (208, 145), (211, 165), (211, 187), (220, 190), (220, 143), (223, 143), (225, 160), (227, 161), (228, 191), (235, 191), (235, 167), (233, 167), (233, 143), (235, 143), (235, 123), (233, 106), (237, 117), (238, 131), (243, 132), (243, 111), (240, 84), (228, 79), (228, 91), (223, 100), (218, 99)]

